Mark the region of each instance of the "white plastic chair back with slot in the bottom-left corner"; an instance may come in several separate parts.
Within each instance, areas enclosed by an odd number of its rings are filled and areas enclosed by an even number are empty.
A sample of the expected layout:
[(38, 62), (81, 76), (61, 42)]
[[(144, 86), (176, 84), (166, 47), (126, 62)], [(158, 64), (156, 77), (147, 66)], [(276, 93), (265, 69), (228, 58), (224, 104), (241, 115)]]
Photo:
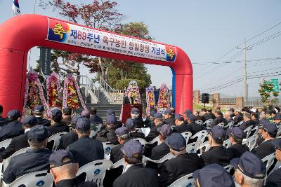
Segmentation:
[(51, 173), (47, 171), (39, 171), (39, 172), (32, 172), (29, 174), (25, 174), (20, 176), (18, 179), (15, 179), (13, 183), (6, 184), (3, 181), (4, 187), (18, 187), (20, 185), (25, 185), (26, 187), (52, 187), (53, 186), (53, 176)]

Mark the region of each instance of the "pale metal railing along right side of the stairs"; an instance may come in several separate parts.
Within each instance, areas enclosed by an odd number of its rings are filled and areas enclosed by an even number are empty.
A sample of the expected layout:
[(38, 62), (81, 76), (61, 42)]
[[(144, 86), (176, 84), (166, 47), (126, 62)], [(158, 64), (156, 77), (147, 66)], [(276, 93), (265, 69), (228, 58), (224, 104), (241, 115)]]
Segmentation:
[(111, 88), (111, 86), (100, 77), (100, 90), (103, 91), (110, 103), (123, 102), (123, 91)]

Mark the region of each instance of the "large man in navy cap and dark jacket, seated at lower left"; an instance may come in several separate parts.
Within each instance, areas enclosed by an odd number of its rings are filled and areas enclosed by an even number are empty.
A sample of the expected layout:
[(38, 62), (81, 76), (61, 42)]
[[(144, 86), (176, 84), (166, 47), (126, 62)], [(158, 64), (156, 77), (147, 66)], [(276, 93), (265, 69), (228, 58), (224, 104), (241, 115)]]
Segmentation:
[(50, 131), (44, 125), (36, 125), (28, 132), (30, 151), (13, 157), (4, 172), (5, 183), (12, 183), (19, 176), (49, 169), (48, 158), (53, 151), (46, 149)]

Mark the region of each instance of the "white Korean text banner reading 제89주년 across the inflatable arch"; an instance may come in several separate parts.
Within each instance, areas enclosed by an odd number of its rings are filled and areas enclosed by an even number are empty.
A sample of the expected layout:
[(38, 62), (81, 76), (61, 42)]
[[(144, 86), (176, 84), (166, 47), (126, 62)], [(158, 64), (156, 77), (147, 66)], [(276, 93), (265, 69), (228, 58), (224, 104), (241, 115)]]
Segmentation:
[(48, 18), (48, 41), (111, 53), (175, 62), (176, 48)]

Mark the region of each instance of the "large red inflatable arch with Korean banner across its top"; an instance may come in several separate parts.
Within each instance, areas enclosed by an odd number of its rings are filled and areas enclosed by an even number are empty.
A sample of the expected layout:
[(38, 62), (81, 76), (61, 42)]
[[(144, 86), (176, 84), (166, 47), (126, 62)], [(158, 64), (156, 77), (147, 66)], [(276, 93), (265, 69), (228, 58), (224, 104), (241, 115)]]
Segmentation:
[(44, 15), (19, 15), (0, 25), (0, 104), (22, 111), (27, 53), (34, 46), (171, 68), (176, 113), (192, 110), (192, 65), (176, 46), (75, 25)]

